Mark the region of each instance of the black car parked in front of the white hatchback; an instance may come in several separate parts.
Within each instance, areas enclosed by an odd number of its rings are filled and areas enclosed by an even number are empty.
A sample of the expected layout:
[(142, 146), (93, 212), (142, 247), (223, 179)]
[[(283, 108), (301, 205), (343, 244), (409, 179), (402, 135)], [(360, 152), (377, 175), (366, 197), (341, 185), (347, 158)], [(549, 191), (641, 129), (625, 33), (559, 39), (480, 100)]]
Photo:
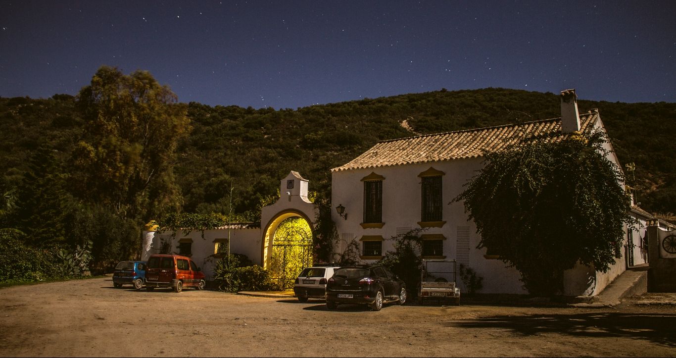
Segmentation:
[(383, 303), (406, 303), (406, 284), (380, 265), (355, 265), (337, 269), (327, 282), (327, 308), (339, 304), (366, 304), (380, 311)]

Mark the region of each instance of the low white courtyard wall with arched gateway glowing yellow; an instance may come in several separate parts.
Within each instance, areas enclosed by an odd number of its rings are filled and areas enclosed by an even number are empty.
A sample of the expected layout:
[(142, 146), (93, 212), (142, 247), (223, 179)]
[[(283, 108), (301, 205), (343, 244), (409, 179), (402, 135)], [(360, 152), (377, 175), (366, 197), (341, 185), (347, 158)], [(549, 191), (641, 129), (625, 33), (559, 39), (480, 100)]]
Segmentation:
[[(308, 181), (291, 171), (281, 180), (280, 197), (261, 210), (258, 223), (232, 223), (205, 231), (158, 233), (148, 226), (144, 231), (142, 259), (169, 248), (187, 254), (200, 265), (207, 279), (214, 279), (214, 265), (227, 249), (245, 254), (251, 261), (271, 271), (281, 282), (291, 282), (293, 272), (312, 265), (312, 238), (318, 206), (308, 199)], [(290, 280), (290, 281), (289, 281)]]

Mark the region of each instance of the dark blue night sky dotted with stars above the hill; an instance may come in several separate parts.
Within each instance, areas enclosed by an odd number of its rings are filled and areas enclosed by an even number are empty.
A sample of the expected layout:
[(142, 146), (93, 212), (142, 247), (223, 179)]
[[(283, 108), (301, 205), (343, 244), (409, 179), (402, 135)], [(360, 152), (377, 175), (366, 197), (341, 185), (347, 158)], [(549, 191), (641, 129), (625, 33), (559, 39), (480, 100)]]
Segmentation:
[(676, 1), (0, 0), (0, 97), (76, 95), (101, 65), (210, 106), (486, 87), (676, 102)]

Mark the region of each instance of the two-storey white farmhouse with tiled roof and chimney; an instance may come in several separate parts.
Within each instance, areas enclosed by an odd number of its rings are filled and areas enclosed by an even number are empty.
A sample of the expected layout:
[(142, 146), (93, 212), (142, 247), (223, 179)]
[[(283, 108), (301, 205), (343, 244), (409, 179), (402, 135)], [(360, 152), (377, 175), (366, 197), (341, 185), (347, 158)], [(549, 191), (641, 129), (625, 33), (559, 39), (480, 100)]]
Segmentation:
[[(562, 91), (561, 115), (521, 125), (381, 141), (351, 162), (331, 169), (331, 201), (343, 210), (343, 215), (333, 212), (339, 250), (354, 240), (361, 250), (360, 259), (371, 263), (393, 250), (388, 238), (411, 229), (425, 229), (421, 235), (423, 258), (456, 259), (458, 264), (470, 267), (483, 277), (480, 293), (526, 294), (516, 269), (506, 267), (485, 248), (477, 249), (480, 237), (473, 221), (468, 221), (463, 204), (449, 203), (483, 168), (483, 151), (504, 148), (517, 140), (514, 135), (518, 131), (541, 135), (605, 130), (598, 110), (579, 114), (574, 90)], [(619, 166), (610, 143), (606, 146), (609, 159)], [(638, 208), (633, 212), (647, 214)], [(641, 232), (627, 229), (624, 244), (628, 251), (608, 272), (596, 272), (583, 265), (566, 271), (564, 295), (594, 296), (628, 265), (646, 263), (642, 243), (645, 219), (642, 223)], [(631, 255), (631, 263), (626, 260), (627, 254)], [(462, 282), (458, 284), (462, 288)]]

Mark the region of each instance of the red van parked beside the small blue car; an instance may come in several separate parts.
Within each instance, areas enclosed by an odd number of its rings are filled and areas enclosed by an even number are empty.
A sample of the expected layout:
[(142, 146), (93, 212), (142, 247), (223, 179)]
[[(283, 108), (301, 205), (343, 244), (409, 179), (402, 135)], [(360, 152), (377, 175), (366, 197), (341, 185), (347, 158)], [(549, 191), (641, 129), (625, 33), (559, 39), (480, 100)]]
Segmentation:
[(184, 287), (204, 290), (204, 273), (189, 257), (170, 254), (150, 255), (145, 268), (145, 289), (171, 287), (181, 292)]

